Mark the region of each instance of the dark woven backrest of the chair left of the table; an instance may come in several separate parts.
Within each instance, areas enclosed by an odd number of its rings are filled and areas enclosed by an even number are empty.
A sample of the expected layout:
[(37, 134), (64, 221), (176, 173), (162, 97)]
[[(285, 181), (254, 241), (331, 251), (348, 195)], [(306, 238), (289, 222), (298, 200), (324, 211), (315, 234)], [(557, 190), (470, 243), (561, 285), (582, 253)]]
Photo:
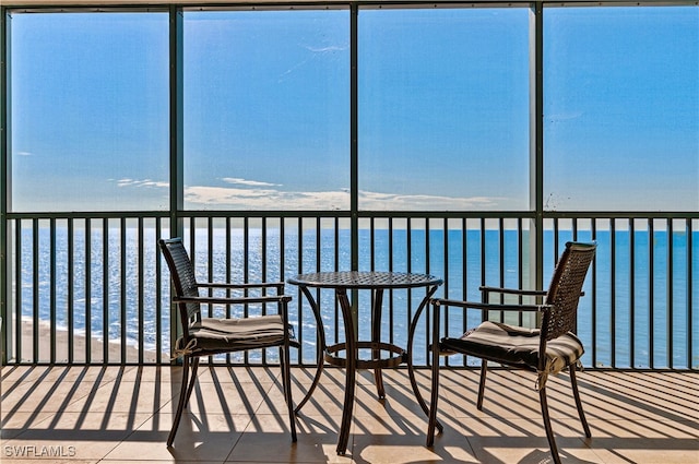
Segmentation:
[[(181, 238), (158, 240), (161, 251), (170, 270), (175, 295), (178, 297), (198, 297), (199, 287), (194, 276), (194, 266), (185, 249)], [(182, 328), (187, 329), (192, 320), (201, 320), (201, 308), (196, 304), (178, 305)], [(187, 331), (185, 331), (187, 332)]]

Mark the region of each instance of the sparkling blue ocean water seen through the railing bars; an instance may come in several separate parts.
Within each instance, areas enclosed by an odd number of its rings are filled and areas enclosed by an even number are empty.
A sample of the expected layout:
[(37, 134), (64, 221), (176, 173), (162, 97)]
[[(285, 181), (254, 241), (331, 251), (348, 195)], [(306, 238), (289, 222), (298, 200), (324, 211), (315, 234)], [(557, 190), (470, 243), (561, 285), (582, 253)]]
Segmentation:
[[(38, 230), (36, 237), (31, 229), (22, 230), (21, 263), (15, 267), (22, 272), (15, 282), (13, 301), (23, 318), (55, 320), (59, 329), (72, 325), (75, 333), (96, 338), (118, 341), (123, 335), (129, 344), (143, 344), (145, 349), (159, 346), (164, 353), (169, 352), (169, 282), (164, 262), (163, 278), (156, 278), (155, 230), (146, 229), (139, 237), (135, 228), (115, 229), (106, 238), (102, 230), (93, 230), (90, 240), (84, 231), (76, 231), (69, 242), (68, 231), (59, 227), (52, 245), (49, 229)], [(260, 230), (251, 229), (247, 236), (239, 230), (226, 236), (225, 230), (213, 229), (213, 247), (209, 250), (206, 230), (198, 229), (194, 252), (198, 277), (223, 282), (229, 272), (234, 281), (242, 282), (245, 277), (239, 270), (247, 269), (248, 282), (276, 281), (304, 272), (350, 269), (348, 230), (340, 230), (336, 236), (324, 229), (319, 236), (315, 230), (304, 233), (303, 237), (297, 234), (287, 230), (280, 237), (279, 230), (268, 230), (263, 237)], [(562, 233), (559, 246), (570, 238)], [(587, 349), (583, 364), (638, 368), (699, 366), (699, 234), (692, 236), (691, 254), (687, 252), (688, 240), (683, 233), (670, 235), (660, 230), (651, 235), (639, 230), (631, 237), (628, 230), (614, 234), (597, 230), (594, 238), (597, 255), (588, 275), (578, 318), (578, 334)], [(592, 236), (581, 231), (578, 239), (585, 241)], [(522, 242), (526, 240), (524, 233)], [(139, 243), (143, 243), (142, 251)], [(514, 230), (505, 230), (502, 235), (497, 230), (467, 230), (465, 235), (461, 230), (446, 234), (430, 230), (426, 235), (425, 230), (408, 234), (402, 229), (391, 233), (376, 229), (374, 234), (362, 230), (359, 235), (360, 270), (438, 275), (446, 283), (436, 296), (476, 301), (481, 300), (478, 286), (483, 284), (519, 287), (523, 283), (531, 287), (528, 266), (520, 270), (520, 254), (528, 262), (529, 252), (526, 249), (520, 252)], [(550, 277), (557, 254), (554, 236), (548, 233), (545, 281)], [(295, 287), (288, 285), (286, 293), (294, 296), (289, 307), (292, 322), (304, 342), (301, 352), (295, 356), (311, 364), (316, 359), (316, 320)], [(319, 297), (328, 343), (342, 340), (344, 328), (333, 294), (322, 290)], [(423, 297), (424, 290), (419, 289), (394, 290), (384, 296), (386, 341), (405, 346), (410, 320)], [(357, 298), (358, 331), (366, 338), (370, 296), (360, 292)], [(214, 309), (212, 316), (223, 316), (221, 311)], [(260, 309), (249, 311), (256, 313)], [(476, 311), (466, 317), (450, 311), (443, 331), (458, 335), (479, 320), (481, 313)], [(429, 324), (423, 314), (414, 345), (416, 365), (426, 364), (425, 334)]]

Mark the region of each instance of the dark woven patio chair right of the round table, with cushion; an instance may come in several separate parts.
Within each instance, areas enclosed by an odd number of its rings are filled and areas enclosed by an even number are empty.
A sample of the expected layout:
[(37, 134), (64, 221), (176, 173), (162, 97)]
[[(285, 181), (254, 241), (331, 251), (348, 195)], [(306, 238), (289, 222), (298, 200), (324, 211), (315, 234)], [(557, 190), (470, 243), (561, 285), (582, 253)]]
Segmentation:
[[(482, 359), (481, 383), (476, 406), (483, 407), (487, 362), (494, 361), (503, 366), (526, 369), (537, 373), (536, 390), (541, 400), (542, 416), (550, 453), (555, 463), (560, 463), (554, 431), (550, 426), (548, 405), (546, 403), (546, 379), (550, 373), (558, 373), (568, 369), (572, 393), (578, 407), (580, 421), (590, 438), (590, 427), (585, 420), (578, 392), (576, 368), (583, 354), (580, 340), (573, 334), (578, 302), (582, 295), (582, 285), (595, 253), (595, 243), (568, 242), (562, 252), (547, 292), (516, 290), (506, 288), (481, 287), (484, 301), (470, 302), (450, 299), (431, 299), (434, 308), (431, 346), (431, 400), (429, 407), (429, 424), (427, 427), (427, 447), (435, 440), (435, 428), (441, 430), (437, 421), (437, 401), (439, 398), (439, 356), (461, 354)], [(490, 293), (510, 294), (519, 296), (545, 296), (544, 305), (495, 305), (488, 304)], [(484, 322), (458, 338), (439, 338), (440, 308), (463, 308), (464, 316), (469, 308), (483, 311)], [(505, 323), (487, 321), (487, 311), (537, 311), (542, 316), (541, 329), (526, 329)], [(437, 343), (436, 341), (439, 341)], [(545, 354), (545, 355), (542, 355)]]

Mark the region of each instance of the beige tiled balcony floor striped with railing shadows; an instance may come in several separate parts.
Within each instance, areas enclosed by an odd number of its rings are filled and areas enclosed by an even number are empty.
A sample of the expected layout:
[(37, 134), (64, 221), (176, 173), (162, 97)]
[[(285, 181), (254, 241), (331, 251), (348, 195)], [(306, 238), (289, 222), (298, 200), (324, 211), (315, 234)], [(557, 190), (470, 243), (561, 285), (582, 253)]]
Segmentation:
[[(165, 440), (180, 368), (4, 367), (0, 462), (543, 463), (550, 462), (533, 376), (491, 371), (483, 412), (477, 371), (443, 371), (445, 433), (425, 448), (427, 420), (404, 369), (386, 371), (387, 400), (359, 377), (351, 451), (335, 453), (343, 371), (327, 369), (292, 443), (277, 369), (202, 368), (173, 449)], [(296, 398), (311, 372), (293, 369)], [(429, 371), (418, 379), (427, 394)], [(565, 463), (699, 463), (699, 373), (579, 376), (593, 438), (584, 439), (568, 377), (549, 380)], [(24, 454), (24, 457), (22, 457)]]

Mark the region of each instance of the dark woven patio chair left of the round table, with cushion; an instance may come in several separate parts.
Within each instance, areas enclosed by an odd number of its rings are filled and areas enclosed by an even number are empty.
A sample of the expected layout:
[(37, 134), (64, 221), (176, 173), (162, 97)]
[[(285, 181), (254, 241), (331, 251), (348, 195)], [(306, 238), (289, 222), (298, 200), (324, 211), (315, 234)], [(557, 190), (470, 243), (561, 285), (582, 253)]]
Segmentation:
[[(283, 295), (284, 283), (249, 283), (249, 284), (216, 284), (198, 283), (194, 269), (182, 245), (181, 238), (158, 240), (161, 251), (167, 261), (173, 281), (173, 302), (179, 309), (183, 334), (175, 344), (173, 356), (182, 357), (182, 385), (179, 404), (173, 421), (167, 445), (171, 447), (177, 433), (177, 427), (183, 409), (189, 403), (194, 382), (199, 358), (225, 353), (245, 352), (259, 348), (280, 348), (280, 364), (282, 366), (282, 388), (288, 407), (288, 418), (292, 430), (292, 441), (296, 441), (296, 421), (292, 401), (289, 346), (298, 347), (292, 326), (288, 323), (287, 306), (292, 297)], [(252, 288), (275, 289), (276, 295), (254, 297), (218, 298), (202, 296), (200, 288), (218, 288), (224, 290)], [(265, 290), (264, 290), (265, 292)], [(269, 305), (277, 306), (277, 313), (272, 316), (250, 317), (240, 319), (202, 318), (202, 305)], [(191, 362), (191, 381), (189, 365)]]

